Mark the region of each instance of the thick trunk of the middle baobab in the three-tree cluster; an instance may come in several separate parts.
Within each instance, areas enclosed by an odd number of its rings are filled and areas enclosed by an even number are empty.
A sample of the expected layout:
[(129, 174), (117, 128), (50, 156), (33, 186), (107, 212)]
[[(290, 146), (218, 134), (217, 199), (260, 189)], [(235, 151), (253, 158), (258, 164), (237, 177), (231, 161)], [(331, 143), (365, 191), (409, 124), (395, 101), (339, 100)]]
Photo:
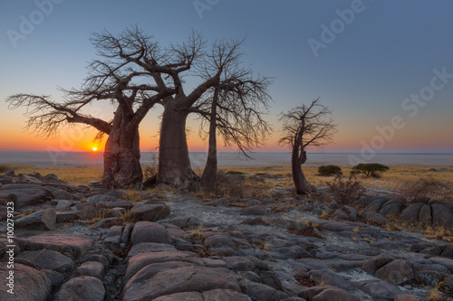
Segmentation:
[(188, 158), (186, 119), (188, 111), (176, 108), (170, 99), (164, 108), (159, 138), (159, 171), (156, 183), (188, 188), (197, 179)]

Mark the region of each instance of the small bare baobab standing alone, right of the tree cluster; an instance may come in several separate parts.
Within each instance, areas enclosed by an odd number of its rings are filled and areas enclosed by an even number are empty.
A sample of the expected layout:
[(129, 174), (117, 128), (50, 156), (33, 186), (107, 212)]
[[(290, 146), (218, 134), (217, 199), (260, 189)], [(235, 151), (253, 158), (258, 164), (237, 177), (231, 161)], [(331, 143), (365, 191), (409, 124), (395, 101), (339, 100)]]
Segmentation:
[(332, 142), (337, 130), (331, 114), (332, 111), (319, 103), (319, 98), (308, 106), (302, 105), (282, 113), (280, 121), (284, 123), (284, 135), (278, 143), (291, 146), (291, 169), (297, 194), (309, 196), (316, 193), (316, 187), (307, 181), (302, 165), (307, 160), (307, 147), (322, 148)]

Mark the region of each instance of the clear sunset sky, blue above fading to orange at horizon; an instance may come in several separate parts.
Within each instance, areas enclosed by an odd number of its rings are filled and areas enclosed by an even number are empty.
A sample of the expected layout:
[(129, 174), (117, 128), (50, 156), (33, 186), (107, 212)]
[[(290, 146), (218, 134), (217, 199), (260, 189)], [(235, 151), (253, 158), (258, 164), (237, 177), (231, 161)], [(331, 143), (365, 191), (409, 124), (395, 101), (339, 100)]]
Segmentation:
[[(196, 30), (208, 42), (243, 38), (243, 62), (273, 77), (274, 128), (265, 147), (281, 152), (278, 114), (321, 98), (338, 133), (324, 152), (453, 153), (453, 2), (449, 0), (4, 0), (0, 2), (0, 150), (90, 151), (96, 132), (64, 127), (52, 139), (24, 131), (16, 93), (61, 98), (78, 88), (97, 59), (89, 37), (138, 24), (162, 45)], [(189, 87), (190, 88), (190, 87)], [(186, 90), (189, 90), (188, 88)], [(92, 105), (111, 119), (112, 108)], [(153, 108), (140, 147), (158, 145)], [(198, 121), (188, 121), (190, 151), (206, 151)], [(219, 142), (220, 150), (225, 149)], [(309, 149), (315, 151), (315, 149)]]

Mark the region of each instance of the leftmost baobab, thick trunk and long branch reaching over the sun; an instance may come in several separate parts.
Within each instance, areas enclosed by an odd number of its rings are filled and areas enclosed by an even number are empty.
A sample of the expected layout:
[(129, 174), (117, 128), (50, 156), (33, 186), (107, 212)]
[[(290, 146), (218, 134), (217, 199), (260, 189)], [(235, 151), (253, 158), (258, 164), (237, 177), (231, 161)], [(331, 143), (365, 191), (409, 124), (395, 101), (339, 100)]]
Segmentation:
[[(92, 63), (93, 70), (105, 68), (101, 61)], [(100, 85), (97, 72), (85, 80), (82, 89), (65, 90), (63, 101), (54, 101), (50, 96), (15, 94), (6, 101), (9, 108), (26, 107), (26, 128), (38, 136), (57, 136), (64, 124), (83, 124), (99, 130), (98, 139), (107, 135), (105, 144), (104, 172), (102, 184), (107, 188), (140, 188), (142, 172), (140, 166), (139, 125), (149, 109), (174, 92), (172, 89), (157, 92), (156, 87), (134, 84), (140, 72), (124, 73), (109, 70)], [(84, 113), (95, 100), (109, 99), (115, 106), (111, 121), (92, 117)]]

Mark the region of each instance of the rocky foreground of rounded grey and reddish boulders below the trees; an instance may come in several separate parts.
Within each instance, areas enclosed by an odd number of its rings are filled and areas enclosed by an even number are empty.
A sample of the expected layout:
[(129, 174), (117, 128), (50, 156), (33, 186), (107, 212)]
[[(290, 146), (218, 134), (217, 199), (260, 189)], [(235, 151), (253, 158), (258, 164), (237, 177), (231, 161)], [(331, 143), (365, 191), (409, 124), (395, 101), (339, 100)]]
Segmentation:
[(448, 233), (453, 202), (131, 199), (54, 174), (0, 176), (0, 299), (453, 300), (453, 244), (393, 223)]

